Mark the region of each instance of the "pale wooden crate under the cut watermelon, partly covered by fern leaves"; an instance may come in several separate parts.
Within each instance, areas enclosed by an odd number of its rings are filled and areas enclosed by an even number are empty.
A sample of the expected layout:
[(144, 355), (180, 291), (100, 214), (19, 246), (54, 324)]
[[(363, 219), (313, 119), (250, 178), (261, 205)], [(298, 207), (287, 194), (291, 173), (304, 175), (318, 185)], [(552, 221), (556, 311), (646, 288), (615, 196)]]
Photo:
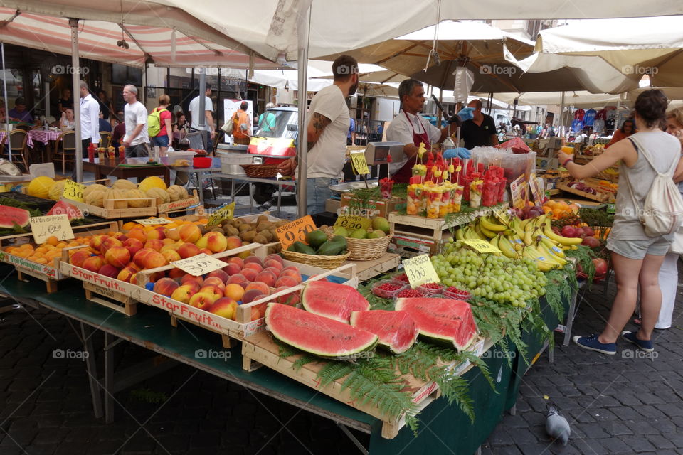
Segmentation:
[[(482, 355), (485, 348), (490, 348), (490, 346), (492, 346), (492, 343), (490, 342), (485, 343), (484, 341), (478, 341), (473, 344), (472, 348), (476, 349), (474, 350), (475, 354)], [(292, 378), (308, 387), (319, 390), (319, 392), (322, 392), (335, 400), (339, 400), (357, 410), (370, 414), (383, 422), (382, 437), (385, 439), (393, 439), (396, 437), (399, 430), (406, 425), (405, 416), (389, 416), (381, 413), (377, 407), (369, 404), (361, 404), (351, 398), (348, 389), (342, 390), (342, 384), (344, 383), (345, 378), (341, 378), (322, 387), (317, 376), (326, 360), (321, 358), (319, 363), (307, 363), (301, 368), (295, 369), (294, 363), (301, 355), (280, 358), (279, 350), (280, 347), (275, 343), (268, 332), (260, 332), (248, 336), (242, 343), (243, 368), (250, 371), (254, 369), (254, 363), (259, 363), (278, 373), (282, 373), (288, 378)], [(467, 365), (450, 364), (443, 365), (443, 367), (452, 370), (452, 374), (454, 375), (462, 375), (470, 370), (472, 365), (469, 363)], [(413, 402), (418, 405), (418, 411), (423, 410), (440, 396), (439, 387), (435, 382), (419, 380), (409, 374), (402, 375), (402, 377), (403, 391), (411, 392)]]

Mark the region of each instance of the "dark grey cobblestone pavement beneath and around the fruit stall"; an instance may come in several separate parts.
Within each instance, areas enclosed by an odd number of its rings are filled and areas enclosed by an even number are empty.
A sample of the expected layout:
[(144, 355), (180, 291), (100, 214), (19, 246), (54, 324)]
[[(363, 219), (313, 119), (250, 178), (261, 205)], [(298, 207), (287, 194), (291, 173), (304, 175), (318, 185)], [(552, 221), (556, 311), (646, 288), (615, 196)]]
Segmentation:
[[(615, 289), (602, 290), (586, 295), (575, 333), (603, 326)], [(482, 453), (683, 454), (680, 321), (657, 333), (654, 359), (634, 358), (625, 343), (614, 356), (587, 353), (561, 346), (557, 334), (555, 363), (539, 358), (522, 382), (517, 414), (504, 415)], [(101, 348), (102, 337), (93, 338)], [(79, 348), (63, 316), (0, 314), (0, 455), (359, 453), (331, 421), (186, 366), (117, 393), (115, 422), (105, 424), (93, 417), (83, 361), (53, 355)], [(122, 343), (117, 368), (153, 355)], [(168, 397), (163, 405), (152, 402), (159, 394)], [(571, 422), (566, 447), (546, 437), (544, 395)]]

